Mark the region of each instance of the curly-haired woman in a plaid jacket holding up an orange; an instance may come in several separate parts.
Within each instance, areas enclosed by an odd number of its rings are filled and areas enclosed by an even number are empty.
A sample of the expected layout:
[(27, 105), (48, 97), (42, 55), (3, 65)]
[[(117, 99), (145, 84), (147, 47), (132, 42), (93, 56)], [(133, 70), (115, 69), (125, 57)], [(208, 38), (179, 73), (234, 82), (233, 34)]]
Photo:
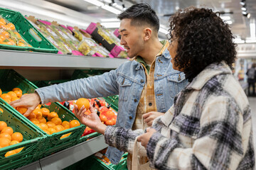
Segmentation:
[(139, 153), (155, 169), (254, 169), (251, 111), (230, 70), (236, 52), (228, 24), (211, 9), (189, 7), (171, 16), (170, 36), (173, 67), (190, 83), (151, 129), (105, 126), (85, 111), (77, 117), (125, 152), (139, 136)]

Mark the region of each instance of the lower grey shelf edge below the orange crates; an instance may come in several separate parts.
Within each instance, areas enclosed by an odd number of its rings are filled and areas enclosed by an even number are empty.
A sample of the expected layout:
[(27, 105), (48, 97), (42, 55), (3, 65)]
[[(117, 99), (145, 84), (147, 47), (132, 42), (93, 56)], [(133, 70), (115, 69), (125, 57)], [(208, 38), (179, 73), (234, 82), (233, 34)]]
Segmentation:
[(63, 169), (75, 164), (86, 157), (106, 148), (104, 136), (100, 135), (91, 140), (82, 142), (78, 145), (52, 154), (46, 158), (40, 159), (42, 170)]

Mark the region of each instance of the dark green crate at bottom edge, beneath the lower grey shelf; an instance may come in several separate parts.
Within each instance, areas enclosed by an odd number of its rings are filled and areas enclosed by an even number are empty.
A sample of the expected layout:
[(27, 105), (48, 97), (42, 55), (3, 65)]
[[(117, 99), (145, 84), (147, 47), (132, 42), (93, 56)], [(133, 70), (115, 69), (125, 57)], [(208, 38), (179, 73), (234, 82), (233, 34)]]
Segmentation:
[(63, 170), (73, 170), (73, 169), (88, 169), (88, 170), (127, 170), (127, 153), (123, 154), (123, 159), (120, 160), (119, 164), (105, 164), (100, 159), (91, 155), (85, 159), (82, 159), (80, 162), (77, 162)]

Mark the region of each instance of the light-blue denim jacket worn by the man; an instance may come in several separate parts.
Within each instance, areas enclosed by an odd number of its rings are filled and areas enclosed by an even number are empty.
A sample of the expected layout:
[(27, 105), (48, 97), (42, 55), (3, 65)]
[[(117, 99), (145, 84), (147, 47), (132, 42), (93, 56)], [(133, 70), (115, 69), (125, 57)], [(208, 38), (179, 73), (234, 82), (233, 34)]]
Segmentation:
[[(157, 111), (166, 113), (174, 103), (174, 96), (187, 84), (185, 74), (173, 69), (167, 49), (161, 56), (156, 57), (154, 77)], [(116, 126), (131, 129), (145, 81), (142, 64), (133, 60), (124, 62), (117, 69), (100, 76), (46, 86), (36, 89), (36, 92), (42, 103), (119, 94)], [(118, 149), (108, 147), (106, 156), (112, 164), (117, 164), (122, 154)]]

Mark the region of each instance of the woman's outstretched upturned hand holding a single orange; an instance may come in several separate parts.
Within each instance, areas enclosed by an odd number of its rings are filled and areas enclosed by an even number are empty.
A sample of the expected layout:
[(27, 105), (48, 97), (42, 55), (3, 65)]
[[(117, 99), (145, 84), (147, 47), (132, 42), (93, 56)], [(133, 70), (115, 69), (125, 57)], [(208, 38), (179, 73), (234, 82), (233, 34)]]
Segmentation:
[(80, 111), (78, 111), (78, 106), (75, 105), (75, 116), (80, 120), (80, 123), (104, 135), (107, 126), (101, 122), (95, 108), (92, 108), (92, 106), (90, 106), (90, 115), (86, 115), (85, 111), (85, 106), (82, 106), (82, 108), (80, 108)]

